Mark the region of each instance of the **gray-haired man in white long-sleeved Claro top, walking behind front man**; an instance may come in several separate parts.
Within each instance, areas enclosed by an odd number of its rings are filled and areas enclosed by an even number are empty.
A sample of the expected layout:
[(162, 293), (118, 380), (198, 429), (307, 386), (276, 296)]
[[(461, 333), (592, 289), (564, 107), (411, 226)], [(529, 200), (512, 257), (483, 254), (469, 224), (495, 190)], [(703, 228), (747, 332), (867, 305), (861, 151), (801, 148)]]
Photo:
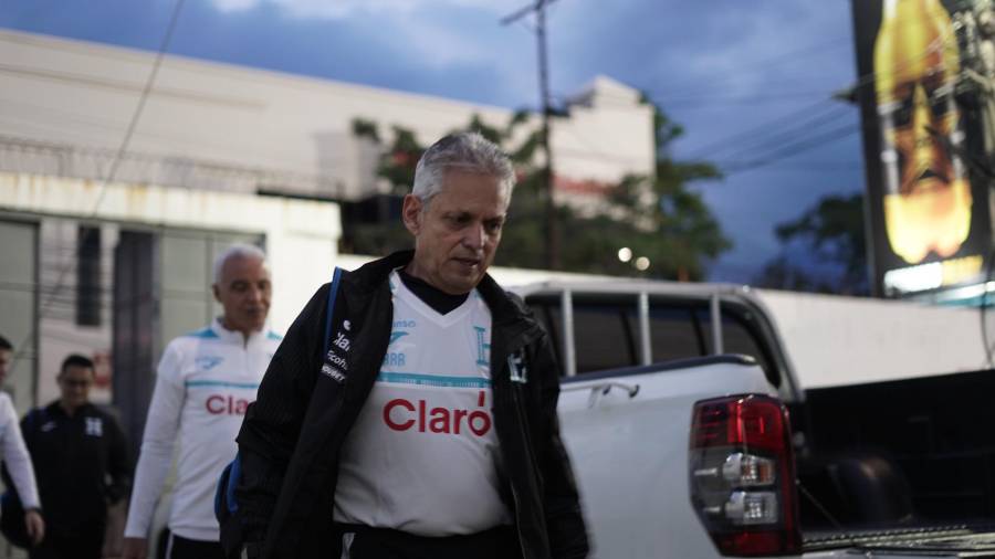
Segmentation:
[(214, 261), (223, 313), (174, 339), (157, 371), (125, 527), (125, 559), (146, 556), (156, 502), (179, 443), (167, 558), (222, 558), (213, 495), (234, 437), (281, 337), (266, 329), (272, 286), (265, 254), (239, 244)]

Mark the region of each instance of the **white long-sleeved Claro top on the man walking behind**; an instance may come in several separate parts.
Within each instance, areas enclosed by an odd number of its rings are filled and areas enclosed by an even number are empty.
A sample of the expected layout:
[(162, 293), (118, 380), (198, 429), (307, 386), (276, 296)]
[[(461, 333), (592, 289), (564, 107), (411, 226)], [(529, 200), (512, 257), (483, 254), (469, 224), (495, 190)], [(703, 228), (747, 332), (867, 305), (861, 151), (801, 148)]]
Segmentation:
[(218, 540), (218, 477), (235, 456), (245, 409), (280, 340), (269, 330), (245, 340), (214, 320), (169, 342), (145, 424), (126, 537), (147, 536), (178, 441), (169, 529), (188, 539)]

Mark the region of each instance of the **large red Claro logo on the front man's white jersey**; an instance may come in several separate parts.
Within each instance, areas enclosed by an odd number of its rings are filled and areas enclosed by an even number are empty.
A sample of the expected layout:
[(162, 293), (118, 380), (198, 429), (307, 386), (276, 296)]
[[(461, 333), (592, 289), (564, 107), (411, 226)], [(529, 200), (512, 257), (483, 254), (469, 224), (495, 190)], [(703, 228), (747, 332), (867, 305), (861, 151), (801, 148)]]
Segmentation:
[[(476, 405), (484, 407), (483, 390), (476, 398)], [(463, 434), (483, 436), (491, 430), (491, 414), (486, 409), (463, 410), (429, 408), (425, 400), (412, 402), (396, 398), (384, 405), (384, 423), (394, 431), (418, 430), (419, 433)]]

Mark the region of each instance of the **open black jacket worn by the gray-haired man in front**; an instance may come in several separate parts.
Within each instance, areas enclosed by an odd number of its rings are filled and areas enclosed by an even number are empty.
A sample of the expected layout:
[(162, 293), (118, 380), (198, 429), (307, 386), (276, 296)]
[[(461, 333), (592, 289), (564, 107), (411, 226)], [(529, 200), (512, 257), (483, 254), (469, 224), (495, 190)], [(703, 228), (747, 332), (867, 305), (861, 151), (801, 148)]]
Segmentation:
[[(331, 527), (339, 451), (387, 350), (388, 276), (411, 256), (397, 253), (342, 273), (332, 321), (326, 284), (291, 326), (239, 433), (238, 509), (221, 529), (229, 556), (256, 542), (264, 558), (338, 557)], [(548, 336), (490, 276), (478, 288), (491, 310), (493, 416), (524, 559), (586, 557), (577, 488), (559, 439), (559, 378)], [(348, 351), (338, 351), (345, 362), (323, 355), (326, 329), (333, 340), (348, 338)], [(510, 356), (523, 361), (517, 377), (524, 382), (512, 380)]]

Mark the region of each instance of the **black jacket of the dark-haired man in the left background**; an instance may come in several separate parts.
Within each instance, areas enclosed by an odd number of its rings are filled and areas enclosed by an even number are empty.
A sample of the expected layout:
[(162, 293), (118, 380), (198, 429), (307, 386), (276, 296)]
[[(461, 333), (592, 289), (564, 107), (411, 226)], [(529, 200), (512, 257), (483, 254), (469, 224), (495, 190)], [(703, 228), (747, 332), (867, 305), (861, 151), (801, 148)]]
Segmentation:
[(67, 415), (59, 402), (32, 410), (21, 431), (45, 516), (45, 531), (73, 536), (102, 527), (107, 506), (130, 486), (132, 465), (117, 420), (93, 404)]

